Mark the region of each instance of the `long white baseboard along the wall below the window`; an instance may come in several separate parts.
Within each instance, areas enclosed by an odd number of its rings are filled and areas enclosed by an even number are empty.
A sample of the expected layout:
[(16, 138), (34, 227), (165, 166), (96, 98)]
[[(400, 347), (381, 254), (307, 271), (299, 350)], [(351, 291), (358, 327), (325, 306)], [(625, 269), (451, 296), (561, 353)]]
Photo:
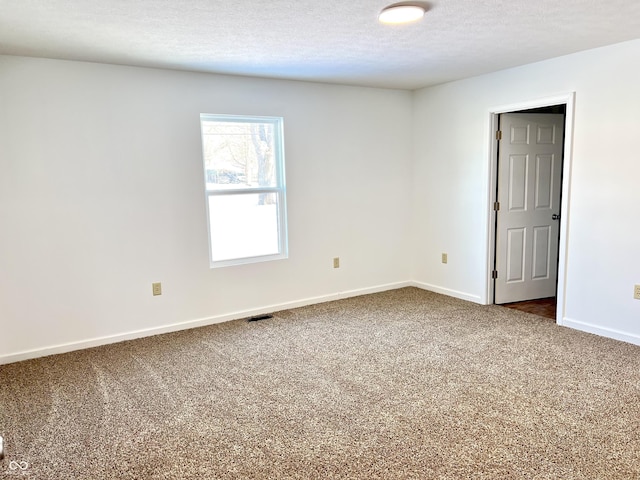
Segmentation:
[(75, 350), (83, 350), (85, 348), (99, 347), (101, 345), (108, 345), (111, 343), (123, 342), (126, 340), (134, 340), (136, 338), (150, 337), (153, 335), (160, 335), (163, 333), (177, 332), (180, 330), (187, 330), (189, 328), (204, 327), (206, 325), (213, 325), (215, 323), (228, 322), (231, 320), (237, 320), (239, 318), (254, 317), (257, 315), (264, 315), (267, 313), (277, 312), (280, 310), (288, 310), (290, 308), (304, 307), (306, 305), (324, 303), (332, 300), (340, 300), (340, 299), (349, 298), (349, 297), (357, 297), (359, 295), (367, 295), (370, 293), (384, 292), (387, 290), (395, 290), (397, 288), (409, 287), (409, 286), (412, 286), (411, 282), (389, 283), (385, 285), (378, 285), (375, 287), (331, 293), (328, 295), (321, 295), (318, 297), (309, 297), (309, 298), (296, 300), (292, 302), (267, 305), (265, 307), (255, 308), (251, 310), (242, 310), (242, 311), (232, 312), (224, 315), (217, 315), (215, 317), (187, 320), (185, 322), (178, 322), (170, 325), (163, 325), (160, 327), (147, 328), (143, 330), (134, 330), (131, 332), (120, 333), (117, 335), (96, 337), (88, 340), (81, 340), (78, 342), (70, 342), (70, 343), (65, 343), (61, 345), (53, 345), (53, 346), (44, 347), (44, 348), (26, 350), (18, 353), (11, 353), (8, 355), (0, 355), (0, 365), (7, 364), (7, 363), (21, 362), (23, 360), (30, 360), (32, 358), (45, 357), (48, 355), (57, 355), (59, 353), (67, 353)]

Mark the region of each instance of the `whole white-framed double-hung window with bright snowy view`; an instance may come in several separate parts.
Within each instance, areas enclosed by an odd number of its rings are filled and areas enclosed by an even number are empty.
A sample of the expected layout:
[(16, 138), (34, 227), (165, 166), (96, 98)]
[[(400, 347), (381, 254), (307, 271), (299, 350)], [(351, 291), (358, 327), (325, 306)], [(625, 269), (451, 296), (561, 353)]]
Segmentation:
[(287, 257), (282, 118), (200, 115), (211, 267)]

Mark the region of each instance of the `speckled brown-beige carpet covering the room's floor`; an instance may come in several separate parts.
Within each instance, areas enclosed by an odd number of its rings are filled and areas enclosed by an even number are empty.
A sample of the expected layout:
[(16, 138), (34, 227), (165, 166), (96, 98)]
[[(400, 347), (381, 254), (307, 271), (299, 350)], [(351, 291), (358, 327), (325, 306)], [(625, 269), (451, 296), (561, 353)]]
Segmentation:
[(0, 478), (640, 478), (640, 348), (406, 288), (0, 366)]

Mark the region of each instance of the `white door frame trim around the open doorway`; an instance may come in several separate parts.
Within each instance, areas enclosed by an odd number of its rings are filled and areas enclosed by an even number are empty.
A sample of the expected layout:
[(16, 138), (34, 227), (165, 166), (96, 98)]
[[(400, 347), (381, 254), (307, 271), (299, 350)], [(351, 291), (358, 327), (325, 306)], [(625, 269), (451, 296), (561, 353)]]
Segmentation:
[(487, 265), (485, 275), (485, 304), (493, 303), (494, 281), (491, 272), (495, 265), (495, 221), (496, 213), (493, 203), (496, 201), (496, 187), (498, 185), (498, 141), (495, 132), (498, 129), (498, 116), (501, 113), (517, 112), (531, 108), (550, 107), (552, 105), (566, 105), (565, 135), (562, 163), (562, 200), (560, 205), (560, 241), (558, 244), (558, 287), (556, 293), (556, 323), (562, 325), (565, 317), (565, 298), (567, 292), (567, 256), (569, 243), (569, 217), (571, 200), (571, 165), (573, 159), (573, 125), (575, 111), (575, 92), (568, 92), (536, 100), (522, 101), (509, 105), (497, 106), (489, 109), (488, 118), (488, 181), (487, 181)]

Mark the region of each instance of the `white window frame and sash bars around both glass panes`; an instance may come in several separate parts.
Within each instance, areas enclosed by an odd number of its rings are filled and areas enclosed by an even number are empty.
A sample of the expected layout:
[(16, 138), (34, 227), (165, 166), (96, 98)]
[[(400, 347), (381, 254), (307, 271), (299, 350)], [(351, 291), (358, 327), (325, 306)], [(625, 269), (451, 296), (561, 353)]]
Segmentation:
[[(211, 190), (207, 188), (206, 162), (204, 156), (204, 130), (203, 122), (220, 121), (220, 122), (238, 122), (238, 123), (270, 123), (274, 127), (274, 162), (275, 162), (275, 181), (273, 187), (256, 186), (247, 188), (234, 189), (217, 189)], [(288, 258), (288, 241), (287, 241), (287, 208), (286, 208), (286, 183), (284, 171), (284, 119), (283, 117), (265, 117), (250, 115), (220, 115), (202, 113), (200, 114), (201, 137), (203, 142), (202, 165), (204, 173), (204, 192), (205, 207), (207, 212), (207, 236), (209, 238), (209, 264), (211, 268), (227, 267), (232, 265), (243, 265), (248, 263), (267, 262), (271, 260), (280, 260)], [(212, 196), (227, 195), (256, 195), (262, 193), (273, 193), (277, 197), (277, 230), (278, 230), (278, 253), (258, 256), (246, 256), (239, 258), (229, 258), (225, 260), (213, 260), (213, 244), (211, 238), (211, 213), (209, 211), (209, 198)]]

